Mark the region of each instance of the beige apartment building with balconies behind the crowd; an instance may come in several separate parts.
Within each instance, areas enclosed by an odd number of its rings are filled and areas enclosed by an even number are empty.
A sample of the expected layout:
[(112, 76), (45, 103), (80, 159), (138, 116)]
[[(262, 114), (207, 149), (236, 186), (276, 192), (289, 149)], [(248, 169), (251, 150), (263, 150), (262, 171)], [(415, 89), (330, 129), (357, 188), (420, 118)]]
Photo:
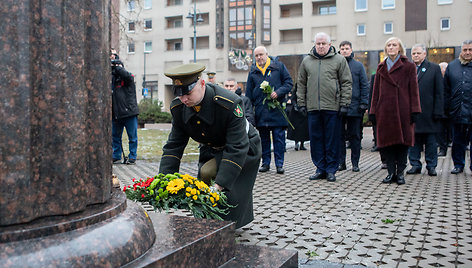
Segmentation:
[(167, 109), (173, 95), (164, 71), (194, 55), (217, 81), (234, 77), (244, 88), (256, 46), (280, 56), (296, 80), (320, 31), (336, 48), (351, 41), (368, 73), (392, 36), (407, 48), (424, 43), (434, 62), (458, 57), (472, 39), (472, 0), (120, 0), (117, 10), (120, 57), (135, 74), (138, 99), (147, 93)]

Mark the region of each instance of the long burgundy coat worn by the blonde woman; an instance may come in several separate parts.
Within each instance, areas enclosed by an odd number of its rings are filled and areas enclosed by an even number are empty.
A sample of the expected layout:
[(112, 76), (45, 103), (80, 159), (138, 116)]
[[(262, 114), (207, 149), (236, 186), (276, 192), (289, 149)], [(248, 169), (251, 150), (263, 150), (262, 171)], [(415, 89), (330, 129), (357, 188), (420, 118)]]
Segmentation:
[(387, 60), (377, 66), (369, 114), (377, 121), (377, 147), (413, 146), (412, 114), (421, 112), (416, 66), (405, 56), (387, 70)]

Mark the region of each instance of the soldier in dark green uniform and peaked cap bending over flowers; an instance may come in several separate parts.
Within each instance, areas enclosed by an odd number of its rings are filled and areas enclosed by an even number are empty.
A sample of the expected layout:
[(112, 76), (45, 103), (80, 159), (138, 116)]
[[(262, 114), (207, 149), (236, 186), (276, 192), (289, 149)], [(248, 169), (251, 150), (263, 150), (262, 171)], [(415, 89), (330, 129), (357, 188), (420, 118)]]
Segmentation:
[(247, 122), (238, 95), (201, 78), (205, 66), (184, 64), (165, 72), (173, 81), (172, 130), (163, 148), (160, 173), (179, 171), (189, 138), (200, 143), (198, 177), (225, 191), (232, 205), (223, 218), (236, 228), (254, 219), (252, 189), (261, 160), (261, 141)]

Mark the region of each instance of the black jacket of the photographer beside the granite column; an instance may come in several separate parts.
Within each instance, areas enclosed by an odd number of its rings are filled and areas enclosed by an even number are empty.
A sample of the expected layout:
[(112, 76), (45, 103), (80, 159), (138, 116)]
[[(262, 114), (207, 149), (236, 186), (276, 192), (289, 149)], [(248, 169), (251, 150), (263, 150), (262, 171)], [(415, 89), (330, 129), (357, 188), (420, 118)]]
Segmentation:
[(125, 68), (116, 66), (112, 72), (112, 117), (114, 120), (139, 114), (134, 77)]

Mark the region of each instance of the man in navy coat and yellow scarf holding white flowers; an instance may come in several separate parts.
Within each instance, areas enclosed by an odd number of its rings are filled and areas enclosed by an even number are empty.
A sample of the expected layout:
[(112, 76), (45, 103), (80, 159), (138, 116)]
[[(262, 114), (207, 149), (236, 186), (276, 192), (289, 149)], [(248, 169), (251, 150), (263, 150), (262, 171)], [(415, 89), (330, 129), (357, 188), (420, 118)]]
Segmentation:
[(285, 65), (277, 58), (269, 57), (265, 47), (256, 47), (254, 56), (256, 62), (252, 65), (247, 77), (246, 96), (254, 105), (256, 128), (261, 135), (262, 166), (259, 171), (267, 172), (270, 169), (270, 133), (272, 132), (275, 167), (278, 174), (283, 174), (285, 129), (288, 123), (279, 109), (269, 108), (269, 101), (264, 101), (266, 94), (262, 92), (261, 84), (267, 81), (274, 90), (270, 97), (284, 105), (287, 94), (292, 90), (293, 81)]

